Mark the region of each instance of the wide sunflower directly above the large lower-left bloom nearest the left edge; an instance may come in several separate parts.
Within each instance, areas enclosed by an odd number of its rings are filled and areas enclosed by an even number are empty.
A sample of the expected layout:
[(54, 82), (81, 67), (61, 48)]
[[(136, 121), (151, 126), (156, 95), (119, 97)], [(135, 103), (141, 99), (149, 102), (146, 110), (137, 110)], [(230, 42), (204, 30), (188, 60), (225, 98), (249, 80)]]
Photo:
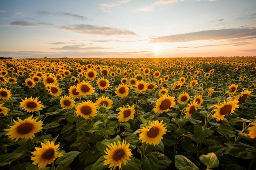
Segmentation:
[(21, 100), (20, 107), (27, 112), (37, 112), (42, 110), (44, 105), (41, 104), (41, 101), (37, 101), (37, 97), (34, 99), (30, 96), (29, 99), (25, 98), (25, 100)]

